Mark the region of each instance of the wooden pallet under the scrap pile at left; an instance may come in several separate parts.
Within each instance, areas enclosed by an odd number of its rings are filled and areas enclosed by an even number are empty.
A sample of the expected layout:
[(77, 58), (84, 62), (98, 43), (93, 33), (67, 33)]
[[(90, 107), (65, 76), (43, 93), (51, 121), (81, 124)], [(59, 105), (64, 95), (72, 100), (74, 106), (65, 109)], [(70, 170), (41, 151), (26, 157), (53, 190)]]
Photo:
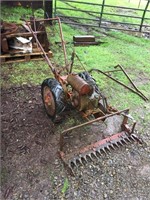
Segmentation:
[[(49, 51), (46, 53), (49, 58), (52, 57), (52, 52)], [(14, 55), (4, 54), (0, 55), (1, 64), (5, 63), (20, 63), (20, 62), (29, 62), (32, 60), (43, 60), (44, 56), (42, 52), (33, 52), (33, 53), (17, 53)]]

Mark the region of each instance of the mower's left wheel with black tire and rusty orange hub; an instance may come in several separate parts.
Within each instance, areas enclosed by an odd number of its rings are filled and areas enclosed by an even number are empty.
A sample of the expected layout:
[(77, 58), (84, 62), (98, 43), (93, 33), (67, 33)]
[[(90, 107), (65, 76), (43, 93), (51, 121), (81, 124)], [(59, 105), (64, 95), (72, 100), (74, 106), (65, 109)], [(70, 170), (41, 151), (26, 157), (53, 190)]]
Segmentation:
[(45, 79), (41, 85), (45, 111), (51, 120), (55, 120), (64, 109), (64, 91), (56, 79)]

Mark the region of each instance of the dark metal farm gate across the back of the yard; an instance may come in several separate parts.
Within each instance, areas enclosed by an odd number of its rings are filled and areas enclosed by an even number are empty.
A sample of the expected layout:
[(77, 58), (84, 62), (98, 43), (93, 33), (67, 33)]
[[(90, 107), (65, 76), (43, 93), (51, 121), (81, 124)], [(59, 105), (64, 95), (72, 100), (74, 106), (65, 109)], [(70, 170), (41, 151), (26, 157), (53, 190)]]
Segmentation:
[[(94, 9), (90, 10), (91, 7), (88, 8), (89, 6), (93, 6)], [(144, 9), (108, 5), (105, 0), (101, 0), (101, 3), (55, 0), (54, 15), (59, 16), (66, 24), (149, 33), (149, 6), (150, 0), (146, 1)], [(117, 12), (119, 9), (122, 10), (122, 13)], [(148, 17), (146, 16), (147, 13)], [(122, 21), (116, 20), (115, 17), (122, 18)]]

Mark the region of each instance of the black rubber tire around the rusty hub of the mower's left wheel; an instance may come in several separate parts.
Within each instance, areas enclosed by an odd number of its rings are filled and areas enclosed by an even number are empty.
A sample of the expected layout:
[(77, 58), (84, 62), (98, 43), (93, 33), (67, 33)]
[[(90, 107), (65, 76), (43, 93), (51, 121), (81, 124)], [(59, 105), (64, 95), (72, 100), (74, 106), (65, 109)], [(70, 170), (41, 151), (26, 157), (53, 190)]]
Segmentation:
[[(48, 110), (46, 109), (45, 102), (44, 102), (44, 88), (48, 87), (53, 95), (53, 99), (55, 102), (55, 112), (53, 115), (50, 115), (48, 113)], [(47, 78), (43, 81), (41, 85), (41, 94), (42, 94), (42, 100), (44, 104), (45, 111), (48, 115), (48, 117), (54, 121), (56, 116), (59, 115), (63, 110), (65, 109), (64, 105), (64, 91), (60, 83), (53, 78)]]

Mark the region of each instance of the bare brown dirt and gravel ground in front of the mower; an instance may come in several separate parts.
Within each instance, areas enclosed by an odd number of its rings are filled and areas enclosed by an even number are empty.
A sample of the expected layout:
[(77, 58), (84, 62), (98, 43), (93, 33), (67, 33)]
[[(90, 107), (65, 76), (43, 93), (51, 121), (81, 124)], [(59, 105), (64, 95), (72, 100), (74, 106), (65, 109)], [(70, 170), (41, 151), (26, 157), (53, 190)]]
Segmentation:
[(1, 199), (150, 199), (150, 124), (142, 133), (147, 144), (121, 147), (79, 166), (73, 177), (58, 155), (59, 131), (67, 121), (71, 124), (71, 113), (65, 113), (61, 125), (54, 125), (43, 109), (40, 86), (1, 93)]

